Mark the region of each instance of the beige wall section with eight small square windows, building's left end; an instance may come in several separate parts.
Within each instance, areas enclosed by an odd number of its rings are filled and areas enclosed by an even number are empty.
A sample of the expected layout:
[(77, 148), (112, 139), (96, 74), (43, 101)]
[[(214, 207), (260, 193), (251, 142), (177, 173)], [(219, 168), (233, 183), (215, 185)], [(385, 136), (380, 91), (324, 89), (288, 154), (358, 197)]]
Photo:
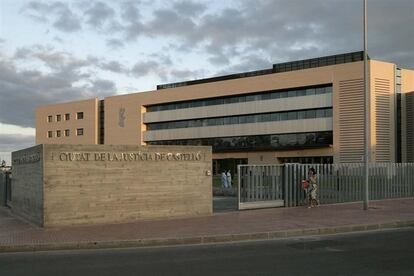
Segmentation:
[[(82, 120), (76, 119), (76, 113), (83, 112)], [(65, 120), (65, 114), (70, 114), (70, 120)], [(56, 115), (61, 115), (61, 121), (56, 121)], [(53, 122), (47, 121), (53, 116)], [(83, 128), (82, 136), (76, 135), (76, 129)], [(65, 130), (70, 135), (65, 136)], [(56, 137), (56, 131), (61, 131), (61, 137)], [(48, 138), (47, 132), (53, 131), (53, 138)], [(70, 103), (41, 106), (36, 109), (36, 144), (97, 144), (98, 143), (98, 99), (76, 101)]]

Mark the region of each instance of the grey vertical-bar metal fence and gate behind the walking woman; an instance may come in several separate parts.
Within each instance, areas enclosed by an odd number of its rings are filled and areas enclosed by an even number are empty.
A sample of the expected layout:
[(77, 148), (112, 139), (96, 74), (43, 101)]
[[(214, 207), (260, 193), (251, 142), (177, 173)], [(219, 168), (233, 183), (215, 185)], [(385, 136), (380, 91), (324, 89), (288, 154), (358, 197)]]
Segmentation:
[[(363, 200), (364, 164), (241, 165), (240, 209), (266, 207), (261, 205), (269, 201), (286, 207), (306, 204), (301, 181), (311, 167), (317, 172), (321, 204)], [(371, 200), (414, 196), (413, 163), (373, 163), (369, 173)]]

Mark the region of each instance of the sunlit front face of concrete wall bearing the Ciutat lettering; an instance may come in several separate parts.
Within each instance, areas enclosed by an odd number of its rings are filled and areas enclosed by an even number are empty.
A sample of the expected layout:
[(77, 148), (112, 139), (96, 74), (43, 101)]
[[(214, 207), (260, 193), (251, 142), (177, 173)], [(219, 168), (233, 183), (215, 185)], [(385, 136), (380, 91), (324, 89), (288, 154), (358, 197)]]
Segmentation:
[(43, 145), (42, 161), (44, 226), (212, 213), (210, 147)]

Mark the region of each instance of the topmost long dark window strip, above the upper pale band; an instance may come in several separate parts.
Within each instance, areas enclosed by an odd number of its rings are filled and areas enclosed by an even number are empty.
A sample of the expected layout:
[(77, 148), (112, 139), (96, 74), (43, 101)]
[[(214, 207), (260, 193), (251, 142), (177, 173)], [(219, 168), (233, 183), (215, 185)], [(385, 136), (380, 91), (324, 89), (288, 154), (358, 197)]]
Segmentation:
[(325, 85), (319, 87), (304, 87), (289, 90), (270, 90), (256, 92), (255, 94), (244, 94), (231, 97), (220, 97), (212, 99), (176, 102), (168, 104), (152, 105), (147, 107), (147, 112), (164, 111), (164, 110), (175, 110), (184, 109), (191, 107), (210, 106), (210, 105), (221, 105), (221, 104), (232, 104), (232, 103), (243, 103), (251, 101), (264, 101), (280, 98), (289, 97), (301, 97), (311, 96), (319, 94), (332, 93), (332, 85)]

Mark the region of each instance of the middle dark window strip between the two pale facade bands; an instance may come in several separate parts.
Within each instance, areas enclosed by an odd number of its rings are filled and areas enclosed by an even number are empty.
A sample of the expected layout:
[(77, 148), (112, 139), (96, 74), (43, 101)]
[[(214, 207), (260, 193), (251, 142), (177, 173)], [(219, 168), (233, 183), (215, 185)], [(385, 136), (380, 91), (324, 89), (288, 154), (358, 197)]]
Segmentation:
[(208, 119), (195, 119), (174, 122), (150, 123), (147, 130), (175, 129), (189, 127), (205, 127), (233, 124), (250, 124), (272, 121), (301, 120), (332, 117), (332, 108), (305, 109), (295, 111), (261, 113), (253, 115), (240, 115), (229, 117), (217, 117)]

